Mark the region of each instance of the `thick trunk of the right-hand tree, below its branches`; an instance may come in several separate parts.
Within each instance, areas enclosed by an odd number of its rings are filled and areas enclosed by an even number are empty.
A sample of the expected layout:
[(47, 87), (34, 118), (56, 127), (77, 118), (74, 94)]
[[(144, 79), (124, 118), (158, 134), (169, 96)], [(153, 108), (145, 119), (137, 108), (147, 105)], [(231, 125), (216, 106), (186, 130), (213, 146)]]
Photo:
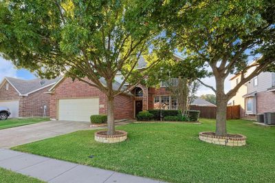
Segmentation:
[(226, 114), (228, 98), (224, 93), (224, 78), (216, 77), (217, 122), (216, 136), (226, 136)]

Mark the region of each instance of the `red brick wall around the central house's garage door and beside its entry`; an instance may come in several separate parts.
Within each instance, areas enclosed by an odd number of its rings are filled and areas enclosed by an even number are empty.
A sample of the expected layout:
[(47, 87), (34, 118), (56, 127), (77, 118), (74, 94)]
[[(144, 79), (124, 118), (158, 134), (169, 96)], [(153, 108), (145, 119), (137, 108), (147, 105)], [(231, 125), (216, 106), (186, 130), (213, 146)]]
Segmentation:
[[(64, 78), (54, 89), (51, 94), (50, 117), (56, 119), (56, 107), (58, 99), (61, 98), (89, 98), (98, 97), (99, 114), (107, 114), (107, 97), (96, 87), (91, 87), (87, 83), (71, 78)], [(133, 98), (130, 96), (120, 95), (115, 97), (115, 119), (133, 118)]]

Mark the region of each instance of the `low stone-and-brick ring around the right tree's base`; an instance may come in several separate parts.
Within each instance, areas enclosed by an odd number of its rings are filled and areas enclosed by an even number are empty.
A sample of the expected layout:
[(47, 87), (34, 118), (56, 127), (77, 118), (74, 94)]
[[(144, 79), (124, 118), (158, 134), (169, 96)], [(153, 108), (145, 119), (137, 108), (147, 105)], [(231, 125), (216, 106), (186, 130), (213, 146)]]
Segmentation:
[(224, 146), (236, 147), (246, 144), (246, 137), (241, 134), (228, 134), (228, 136), (215, 136), (214, 132), (203, 131), (199, 133), (199, 140), (204, 142), (219, 144)]

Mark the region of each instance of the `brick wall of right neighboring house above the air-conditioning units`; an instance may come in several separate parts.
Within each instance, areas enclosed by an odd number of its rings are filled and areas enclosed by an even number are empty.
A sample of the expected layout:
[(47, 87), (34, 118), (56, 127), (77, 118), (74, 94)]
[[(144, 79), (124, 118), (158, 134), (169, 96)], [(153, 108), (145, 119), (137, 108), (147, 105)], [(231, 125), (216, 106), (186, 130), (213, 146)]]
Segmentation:
[(256, 95), (257, 114), (275, 111), (275, 92), (259, 92)]

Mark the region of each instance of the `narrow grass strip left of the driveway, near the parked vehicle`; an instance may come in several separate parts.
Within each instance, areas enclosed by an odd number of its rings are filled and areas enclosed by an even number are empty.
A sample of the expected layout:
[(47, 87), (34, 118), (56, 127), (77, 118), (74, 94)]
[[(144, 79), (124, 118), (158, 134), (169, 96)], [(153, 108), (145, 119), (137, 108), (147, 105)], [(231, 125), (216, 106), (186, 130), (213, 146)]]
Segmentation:
[(10, 118), (8, 120), (0, 120), (0, 129), (30, 125), (48, 120), (50, 120), (50, 118)]

